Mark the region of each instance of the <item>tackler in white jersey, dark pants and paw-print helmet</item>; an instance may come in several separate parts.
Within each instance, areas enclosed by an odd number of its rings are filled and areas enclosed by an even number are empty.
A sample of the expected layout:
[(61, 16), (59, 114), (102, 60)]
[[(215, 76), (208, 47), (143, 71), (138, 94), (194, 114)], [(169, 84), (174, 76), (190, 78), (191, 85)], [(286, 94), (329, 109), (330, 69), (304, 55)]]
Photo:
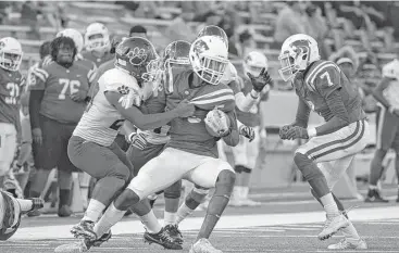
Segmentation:
[[(76, 127), (67, 152), (77, 167), (98, 180), (84, 218), (71, 230), (76, 237), (86, 239), (77, 244), (61, 245), (57, 252), (70, 252), (74, 246), (88, 250), (110, 238), (109, 229), (96, 233), (93, 226), (133, 177), (130, 162), (114, 142), (125, 119), (147, 130), (162, 127), (174, 118), (192, 115), (194, 105), (186, 101), (164, 113), (145, 115), (139, 111), (141, 101), (148, 99), (149, 91), (152, 91), (146, 88), (146, 84), (152, 83), (158, 71), (158, 54), (150, 41), (138, 37), (128, 38), (116, 48), (115, 68), (100, 77), (99, 91)], [(110, 217), (105, 213), (101, 220), (113, 224), (116, 217)], [(174, 246), (175, 243), (166, 230), (161, 228), (157, 233), (164, 246)]]

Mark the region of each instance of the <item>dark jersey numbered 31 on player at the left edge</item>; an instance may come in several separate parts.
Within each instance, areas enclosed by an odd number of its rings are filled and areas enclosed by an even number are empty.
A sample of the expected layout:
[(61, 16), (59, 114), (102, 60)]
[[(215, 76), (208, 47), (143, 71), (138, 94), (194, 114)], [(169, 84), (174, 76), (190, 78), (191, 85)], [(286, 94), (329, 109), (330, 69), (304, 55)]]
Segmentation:
[(20, 127), (20, 99), (25, 78), (20, 72), (9, 72), (0, 67), (0, 123), (11, 123)]

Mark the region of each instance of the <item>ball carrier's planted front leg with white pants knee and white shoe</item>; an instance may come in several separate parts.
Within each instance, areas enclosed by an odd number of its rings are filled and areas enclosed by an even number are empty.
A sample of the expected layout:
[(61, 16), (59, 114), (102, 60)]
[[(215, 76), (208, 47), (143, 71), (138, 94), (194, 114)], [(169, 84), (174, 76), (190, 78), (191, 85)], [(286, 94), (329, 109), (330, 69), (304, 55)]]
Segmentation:
[(222, 216), (233, 192), (236, 175), (225, 161), (204, 157), (204, 163), (187, 174), (187, 179), (203, 188), (215, 188), (210, 200), (205, 218), (190, 252), (220, 252), (209, 242), (214, 227)]

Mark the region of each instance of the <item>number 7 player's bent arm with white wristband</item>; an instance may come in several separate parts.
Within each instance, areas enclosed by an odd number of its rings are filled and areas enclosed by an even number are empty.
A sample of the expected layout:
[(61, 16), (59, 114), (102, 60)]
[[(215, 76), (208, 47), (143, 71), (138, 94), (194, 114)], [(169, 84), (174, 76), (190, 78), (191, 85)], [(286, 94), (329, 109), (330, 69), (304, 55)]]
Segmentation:
[(322, 69), (316, 76), (314, 85), (334, 116), (325, 124), (308, 129), (309, 137), (328, 135), (348, 126), (349, 113), (340, 96), (342, 86), (339, 69), (335, 67)]

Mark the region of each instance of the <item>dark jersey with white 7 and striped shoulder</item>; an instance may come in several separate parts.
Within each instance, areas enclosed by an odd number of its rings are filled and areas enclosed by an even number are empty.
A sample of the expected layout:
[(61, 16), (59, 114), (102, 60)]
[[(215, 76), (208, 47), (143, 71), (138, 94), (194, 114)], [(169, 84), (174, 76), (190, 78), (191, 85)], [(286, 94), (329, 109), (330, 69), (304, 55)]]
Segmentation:
[(301, 85), (299, 88), (296, 85), (297, 94), (326, 122), (334, 117), (327, 103), (334, 91), (339, 92), (350, 123), (365, 117), (358, 89), (349, 83), (334, 62), (316, 61), (299, 78), (300, 80), (296, 81), (300, 81)]

